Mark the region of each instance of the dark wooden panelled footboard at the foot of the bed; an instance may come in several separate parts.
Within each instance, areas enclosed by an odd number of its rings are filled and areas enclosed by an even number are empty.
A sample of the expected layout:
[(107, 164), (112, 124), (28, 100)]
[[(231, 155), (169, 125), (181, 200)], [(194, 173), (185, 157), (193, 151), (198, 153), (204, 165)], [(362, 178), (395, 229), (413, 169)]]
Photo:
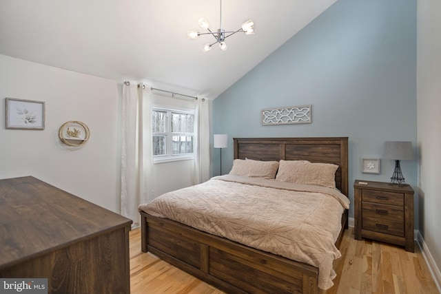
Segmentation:
[(141, 250), (227, 293), (317, 293), (318, 269), (141, 212)]

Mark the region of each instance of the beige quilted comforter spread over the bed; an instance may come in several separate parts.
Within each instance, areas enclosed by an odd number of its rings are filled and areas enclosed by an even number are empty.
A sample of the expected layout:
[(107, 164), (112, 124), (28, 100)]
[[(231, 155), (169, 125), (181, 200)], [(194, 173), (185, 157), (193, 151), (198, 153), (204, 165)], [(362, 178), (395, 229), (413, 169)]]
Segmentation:
[(139, 206), (152, 216), (316, 266), (322, 289), (334, 284), (344, 209), (349, 200), (336, 189), (232, 175)]

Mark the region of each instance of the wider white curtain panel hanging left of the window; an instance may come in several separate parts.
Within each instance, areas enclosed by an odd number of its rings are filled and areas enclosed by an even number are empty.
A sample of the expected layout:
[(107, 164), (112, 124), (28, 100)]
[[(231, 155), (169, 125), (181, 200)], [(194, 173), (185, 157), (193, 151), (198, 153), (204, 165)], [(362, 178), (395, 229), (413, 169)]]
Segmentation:
[(139, 226), (138, 206), (153, 199), (152, 91), (123, 83), (121, 214)]

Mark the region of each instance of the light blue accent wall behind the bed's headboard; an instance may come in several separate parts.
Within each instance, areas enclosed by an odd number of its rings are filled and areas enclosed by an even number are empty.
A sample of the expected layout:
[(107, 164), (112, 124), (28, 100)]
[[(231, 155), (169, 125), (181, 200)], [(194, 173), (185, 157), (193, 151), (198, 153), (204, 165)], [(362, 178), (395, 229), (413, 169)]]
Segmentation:
[[(311, 124), (260, 124), (262, 109), (295, 105), (312, 105)], [(353, 202), (355, 179), (389, 182), (393, 160), (380, 160), (380, 174), (361, 172), (361, 158), (382, 158), (384, 141), (411, 141), (416, 158), (416, 105), (416, 0), (338, 0), (214, 100), (213, 132), (229, 136), (224, 173), (232, 138), (348, 136)], [(216, 150), (213, 160), (216, 175)], [(417, 160), (401, 168), (417, 191)]]

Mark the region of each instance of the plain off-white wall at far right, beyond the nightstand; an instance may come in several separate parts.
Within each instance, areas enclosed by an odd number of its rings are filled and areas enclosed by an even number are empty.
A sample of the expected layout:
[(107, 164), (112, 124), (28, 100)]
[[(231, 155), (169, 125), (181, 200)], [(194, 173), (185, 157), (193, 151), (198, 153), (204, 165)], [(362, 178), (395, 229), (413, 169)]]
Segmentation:
[(418, 1), (420, 233), (441, 290), (441, 1)]

